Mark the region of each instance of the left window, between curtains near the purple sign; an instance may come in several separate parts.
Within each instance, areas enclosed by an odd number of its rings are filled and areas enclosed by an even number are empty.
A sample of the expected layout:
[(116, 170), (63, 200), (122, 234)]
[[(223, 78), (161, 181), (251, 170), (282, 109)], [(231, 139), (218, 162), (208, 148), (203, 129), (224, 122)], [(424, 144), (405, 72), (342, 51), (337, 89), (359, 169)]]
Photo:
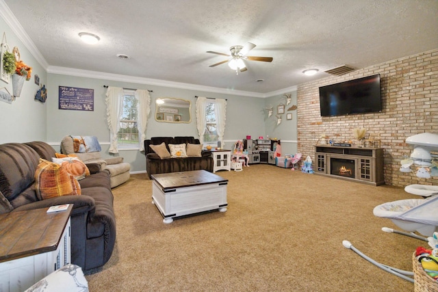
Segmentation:
[(118, 148), (139, 148), (138, 140), (138, 100), (133, 91), (125, 90), (123, 94), (122, 117), (117, 133)]

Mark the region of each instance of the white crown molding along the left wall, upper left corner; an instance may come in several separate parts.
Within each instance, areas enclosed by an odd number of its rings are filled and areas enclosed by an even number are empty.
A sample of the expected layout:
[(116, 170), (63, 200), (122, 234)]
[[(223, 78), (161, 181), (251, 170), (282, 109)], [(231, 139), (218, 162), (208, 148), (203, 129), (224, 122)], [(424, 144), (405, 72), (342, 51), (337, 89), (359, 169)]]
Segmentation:
[(49, 67), (49, 63), (47, 63), (46, 59), (42, 56), (40, 51), (36, 48), (34, 42), (32, 42), (31, 38), (27, 35), (23, 26), (18, 22), (12, 11), (9, 9), (8, 5), (6, 5), (5, 1), (0, 0), (0, 16), (3, 18), (6, 24), (12, 29), (14, 34), (17, 36), (18, 40), (21, 40), (25, 47), (29, 50), (31, 55), (34, 56), (36, 61), (47, 70)]

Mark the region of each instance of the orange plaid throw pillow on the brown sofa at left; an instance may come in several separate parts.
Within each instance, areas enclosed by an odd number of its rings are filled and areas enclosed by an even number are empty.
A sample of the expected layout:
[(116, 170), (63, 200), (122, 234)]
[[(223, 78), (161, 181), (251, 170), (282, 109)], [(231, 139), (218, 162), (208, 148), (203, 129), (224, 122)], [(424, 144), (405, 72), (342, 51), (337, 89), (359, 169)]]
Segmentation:
[(68, 174), (62, 165), (42, 158), (35, 172), (35, 189), (42, 200), (81, 194), (81, 187), (74, 176)]

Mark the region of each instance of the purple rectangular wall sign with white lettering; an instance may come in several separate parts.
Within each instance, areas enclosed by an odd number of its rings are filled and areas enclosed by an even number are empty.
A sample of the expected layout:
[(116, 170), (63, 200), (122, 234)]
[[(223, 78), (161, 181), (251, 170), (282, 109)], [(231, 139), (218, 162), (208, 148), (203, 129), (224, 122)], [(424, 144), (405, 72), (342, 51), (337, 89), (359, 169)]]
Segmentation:
[(60, 86), (59, 109), (94, 111), (94, 89)]

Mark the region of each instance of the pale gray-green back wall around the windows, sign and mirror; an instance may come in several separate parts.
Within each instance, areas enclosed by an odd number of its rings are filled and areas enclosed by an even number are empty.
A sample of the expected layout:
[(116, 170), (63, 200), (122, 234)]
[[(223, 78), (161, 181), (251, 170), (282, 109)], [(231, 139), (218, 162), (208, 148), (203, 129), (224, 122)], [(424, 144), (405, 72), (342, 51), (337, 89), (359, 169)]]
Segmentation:
[[(195, 96), (227, 99), (227, 128), (224, 134), (225, 148), (231, 148), (235, 141), (244, 139), (246, 135), (252, 135), (253, 137), (266, 135), (266, 122), (263, 119), (264, 114), (262, 111), (265, 106), (263, 98), (183, 90), (156, 85), (104, 81), (68, 75), (49, 74), (48, 78), (50, 81), (48, 90), (53, 92), (53, 94), (47, 100), (47, 141), (55, 149), (59, 149), (59, 143), (65, 135), (95, 135), (102, 144), (103, 156), (111, 156), (108, 152), (110, 131), (107, 127), (106, 89), (103, 88), (103, 85), (153, 90), (151, 93), (151, 113), (146, 130), (147, 138), (176, 135), (198, 137)], [(59, 86), (94, 89), (94, 111), (58, 109)], [(181, 124), (157, 122), (153, 117), (155, 113), (155, 99), (164, 97), (183, 98), (190, 101), (192, 103), (192, 122)], [(120, 150), (118, 155), (131, 163), (133, 172), (143, 172), (146, 170), (146, 159), (143, 152), (139, 150)]]

